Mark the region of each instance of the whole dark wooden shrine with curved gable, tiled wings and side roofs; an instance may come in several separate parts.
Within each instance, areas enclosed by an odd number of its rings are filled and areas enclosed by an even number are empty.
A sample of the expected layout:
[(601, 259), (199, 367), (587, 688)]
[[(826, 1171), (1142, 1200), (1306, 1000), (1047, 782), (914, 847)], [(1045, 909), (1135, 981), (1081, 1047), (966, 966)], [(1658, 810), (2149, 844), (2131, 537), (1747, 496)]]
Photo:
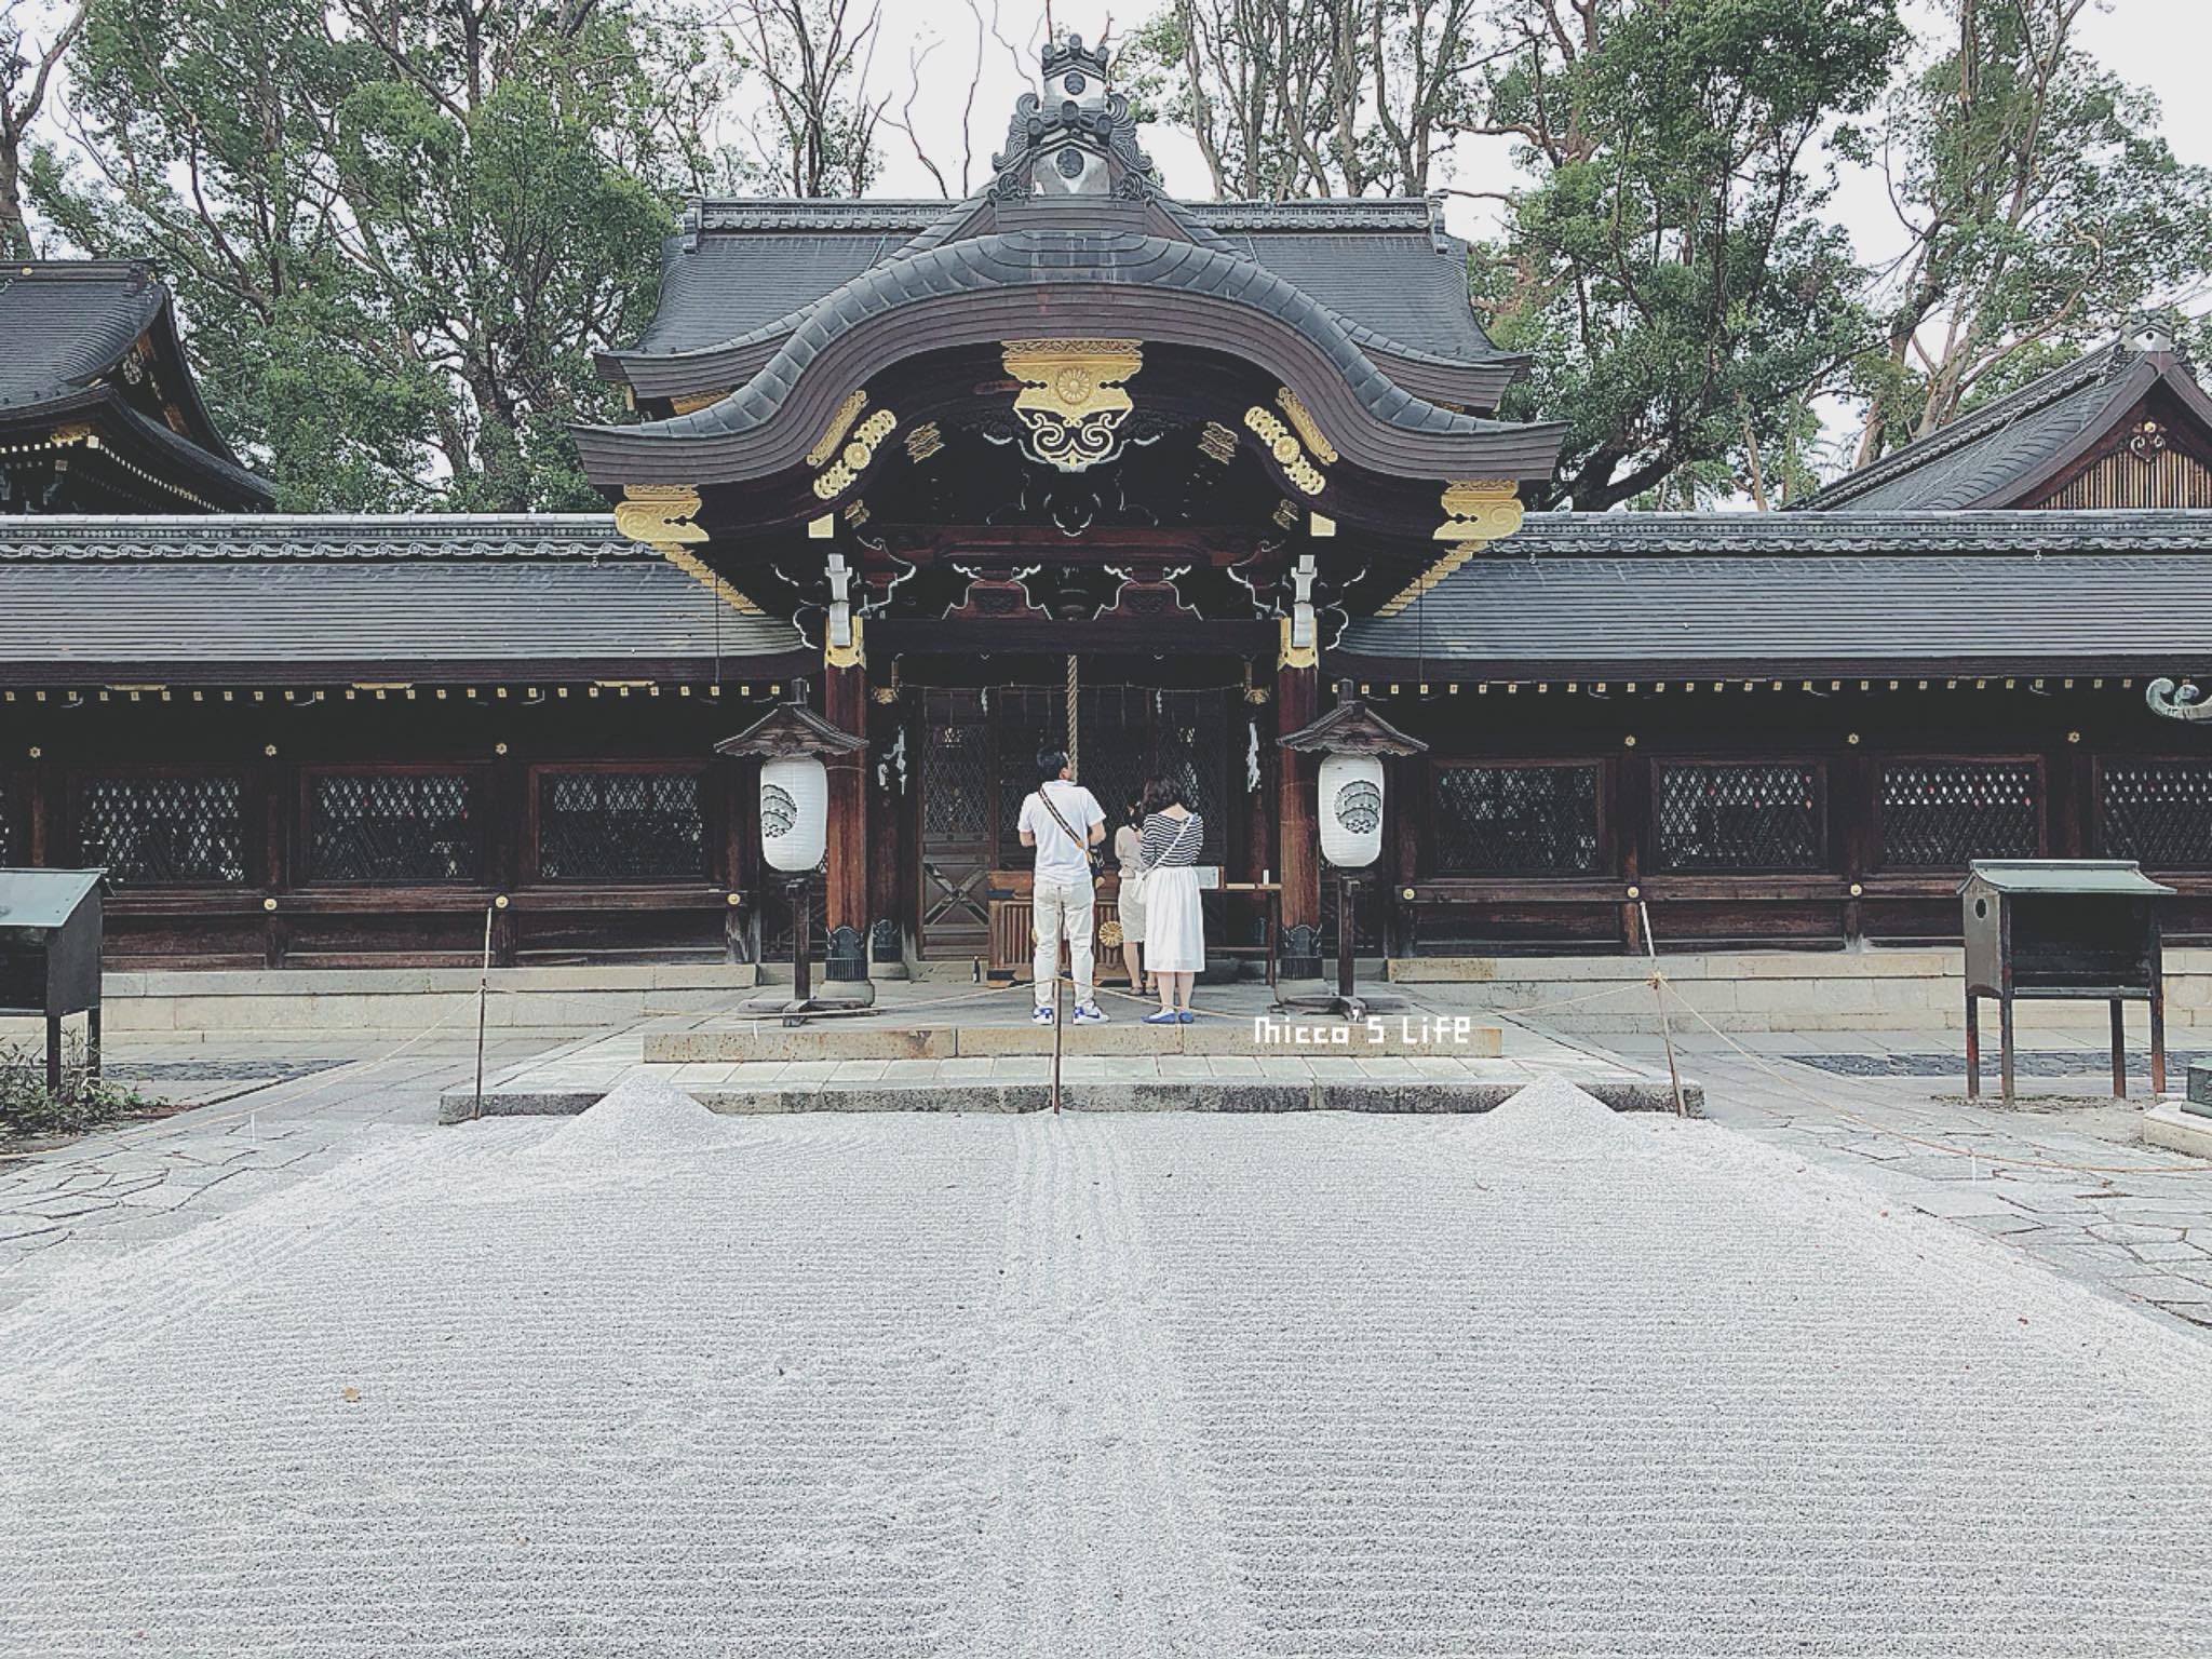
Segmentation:
[[(1978, 856), (2126, 856), (2212, 936), (2212, 403), (2157, 330), (1785, 513), (1528, 513), (1564, 427), (1431, 201), (1186, 204), (1106, 62), (1044, 55), (942, 201), (695, 201), (582, 427), (604, 515), (276, 515), (144, 265), (0, 268), (0, 865), (106, 865), (111, 964), (774, 958), (757, 761), (832, 763), (830, 978), (1026, 971), (1062, 745), (1281, 885), (1314, 757), (1389, 761), (1360, 949), (1958, 940)], [(639, 250), (646, 257), (648, 250)], [(1102, 889), (1110, 916), (1110, 889)], [(1265, 900), (1208, 896), (1252, 969)]]

